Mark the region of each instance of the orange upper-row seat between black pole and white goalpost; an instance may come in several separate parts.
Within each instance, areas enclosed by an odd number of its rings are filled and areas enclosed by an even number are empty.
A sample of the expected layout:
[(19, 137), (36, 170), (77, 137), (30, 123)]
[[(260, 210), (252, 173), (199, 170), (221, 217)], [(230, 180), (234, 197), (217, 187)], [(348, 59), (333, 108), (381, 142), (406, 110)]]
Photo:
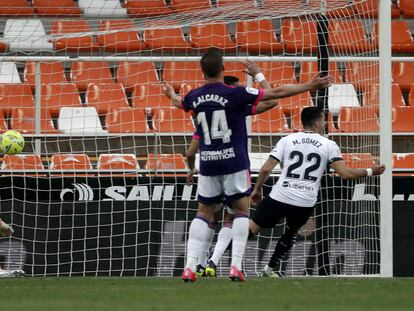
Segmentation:
[(373, 48), (359, 20), (330, 20), (328, 28), (330, 47), (335, 52), (357, 53)]

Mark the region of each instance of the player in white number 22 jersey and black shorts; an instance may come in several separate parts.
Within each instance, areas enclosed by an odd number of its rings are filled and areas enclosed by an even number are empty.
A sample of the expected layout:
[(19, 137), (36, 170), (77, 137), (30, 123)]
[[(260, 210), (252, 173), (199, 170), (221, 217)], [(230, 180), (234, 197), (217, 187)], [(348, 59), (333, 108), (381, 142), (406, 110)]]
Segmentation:
[[(261, 272), (265, 277), (278, 276), (275, 268), (295, 243), (299, 228), (311, 216), (321, 178), (328, 165), (343, 179), (380, 175), (385, 170), (383, 165), (373, 165), (367, 169), (347, 166), (338, 145), (322, 136), (325, 116), (320, 108), (303, 109), (301, 121), (304, 131), (279, 140), (260, 169), (252, 193), (252, 203), (260, 202), (250, 219), (250, 231), (253, 234), (259, 233), (262, 228), (274, 227), (282, 218), (286, 219), (286, 230)], [(282, 173), (270, 194), (261, 201), (263, 184), (278, 163), (283, 164)]]

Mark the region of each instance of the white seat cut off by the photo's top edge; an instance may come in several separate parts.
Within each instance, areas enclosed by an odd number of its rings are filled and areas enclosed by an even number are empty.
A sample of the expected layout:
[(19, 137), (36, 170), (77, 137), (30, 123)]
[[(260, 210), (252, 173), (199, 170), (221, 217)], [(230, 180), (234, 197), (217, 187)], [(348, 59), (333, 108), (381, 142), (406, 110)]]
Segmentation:
[(126, 17), (127, 10), (119, 0), (78, 0), (83, 15), (87, 17)]

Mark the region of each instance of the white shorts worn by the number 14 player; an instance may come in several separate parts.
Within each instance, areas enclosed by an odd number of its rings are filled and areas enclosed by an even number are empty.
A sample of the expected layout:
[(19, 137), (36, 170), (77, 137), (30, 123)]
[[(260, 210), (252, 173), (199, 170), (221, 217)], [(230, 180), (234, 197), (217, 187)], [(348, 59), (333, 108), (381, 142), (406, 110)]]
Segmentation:
[(217, 176), (198, 176), (198, 201), (207, 205), (219, 203), (223, 198), (232, 202), (252, 192), (250, 171)]

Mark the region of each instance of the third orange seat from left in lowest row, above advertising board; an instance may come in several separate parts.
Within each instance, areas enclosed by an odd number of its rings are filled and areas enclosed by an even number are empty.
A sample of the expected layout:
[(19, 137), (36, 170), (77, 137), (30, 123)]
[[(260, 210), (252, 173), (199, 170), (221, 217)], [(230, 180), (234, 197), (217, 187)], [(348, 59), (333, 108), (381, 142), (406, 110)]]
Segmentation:
[[(137, 157), (135, 154), (121, 154), (121, 153), (112, 153), (112, 154), (100, 154), (98, 158), (98, 170), (138, 170), (139, 164), (137, 162)], [(103, 173), (99, 174), (100, 176), (108, 175), (110, 176), (137, 176), (139, 174), (133, 172), (125, 173)]]

